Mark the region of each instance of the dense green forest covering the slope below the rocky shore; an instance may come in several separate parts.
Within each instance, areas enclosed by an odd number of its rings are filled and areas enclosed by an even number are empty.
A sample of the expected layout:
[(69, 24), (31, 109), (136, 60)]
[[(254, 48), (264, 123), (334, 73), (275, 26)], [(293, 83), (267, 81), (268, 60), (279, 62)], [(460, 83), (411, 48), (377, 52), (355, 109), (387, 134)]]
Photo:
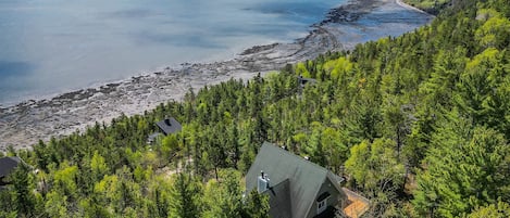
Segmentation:
[[(266, 217), (242, 184), (263, 141), (348, 178), (366, 217), (510, 217), (509, 17), (456, 0), (413, 33), (11, 149), (27, 165), (0, 217)], [(182, 131), (148, 144), (166, 116)]]

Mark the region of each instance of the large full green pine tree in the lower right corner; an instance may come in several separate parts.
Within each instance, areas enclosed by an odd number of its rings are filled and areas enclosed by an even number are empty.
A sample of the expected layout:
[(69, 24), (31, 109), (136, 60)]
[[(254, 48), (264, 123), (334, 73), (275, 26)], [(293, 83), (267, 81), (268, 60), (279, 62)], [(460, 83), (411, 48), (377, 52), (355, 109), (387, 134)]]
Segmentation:
[(422, 214), (456, 217), (498, 197), (510, 200), (510, 146), (503, 134), (468, 125), (452, 120), (433, 136), (435, 148), (425, 158), (413, 201)]

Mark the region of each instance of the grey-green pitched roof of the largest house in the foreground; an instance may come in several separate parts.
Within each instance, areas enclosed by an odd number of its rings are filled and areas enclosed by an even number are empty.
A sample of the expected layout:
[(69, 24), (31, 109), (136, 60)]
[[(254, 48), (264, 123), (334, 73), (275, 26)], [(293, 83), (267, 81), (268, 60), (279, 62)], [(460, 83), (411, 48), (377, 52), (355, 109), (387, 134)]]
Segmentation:
[[(248, 192), (257, 189), (257, 179), (261, 170), (269, 176), (270, 187), (285, 180), (289, 181), (289, 214), (294, 217), (307, 216), (326, 179), (333, 181), (340, 190), (333, 172), (269, 142), (262, 144), (246, 175)], [(272, 215), (271, 211), (270, 215)]]

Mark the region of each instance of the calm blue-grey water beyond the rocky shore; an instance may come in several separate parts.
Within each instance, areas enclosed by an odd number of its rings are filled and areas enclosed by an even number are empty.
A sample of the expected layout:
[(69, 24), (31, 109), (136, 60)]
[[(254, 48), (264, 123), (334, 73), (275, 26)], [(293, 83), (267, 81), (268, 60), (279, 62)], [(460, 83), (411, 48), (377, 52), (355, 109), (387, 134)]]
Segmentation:
[(0, 105), (291, 41), (345, 0), (0, 0)]

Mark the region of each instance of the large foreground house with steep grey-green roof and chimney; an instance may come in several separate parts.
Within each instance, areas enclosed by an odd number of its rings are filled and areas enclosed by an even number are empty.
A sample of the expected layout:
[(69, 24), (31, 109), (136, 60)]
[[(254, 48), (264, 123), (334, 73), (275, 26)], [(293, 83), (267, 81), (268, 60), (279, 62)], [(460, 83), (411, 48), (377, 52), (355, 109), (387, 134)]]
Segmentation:
[(346, 194), (340, 187), (343, 178), (269, 142), (260, 148), (245, 179), (247, 192), (257, 189), (270, 196), (273, 218), (345, 217), (343, 209), (352, 203), (351, 192)]

